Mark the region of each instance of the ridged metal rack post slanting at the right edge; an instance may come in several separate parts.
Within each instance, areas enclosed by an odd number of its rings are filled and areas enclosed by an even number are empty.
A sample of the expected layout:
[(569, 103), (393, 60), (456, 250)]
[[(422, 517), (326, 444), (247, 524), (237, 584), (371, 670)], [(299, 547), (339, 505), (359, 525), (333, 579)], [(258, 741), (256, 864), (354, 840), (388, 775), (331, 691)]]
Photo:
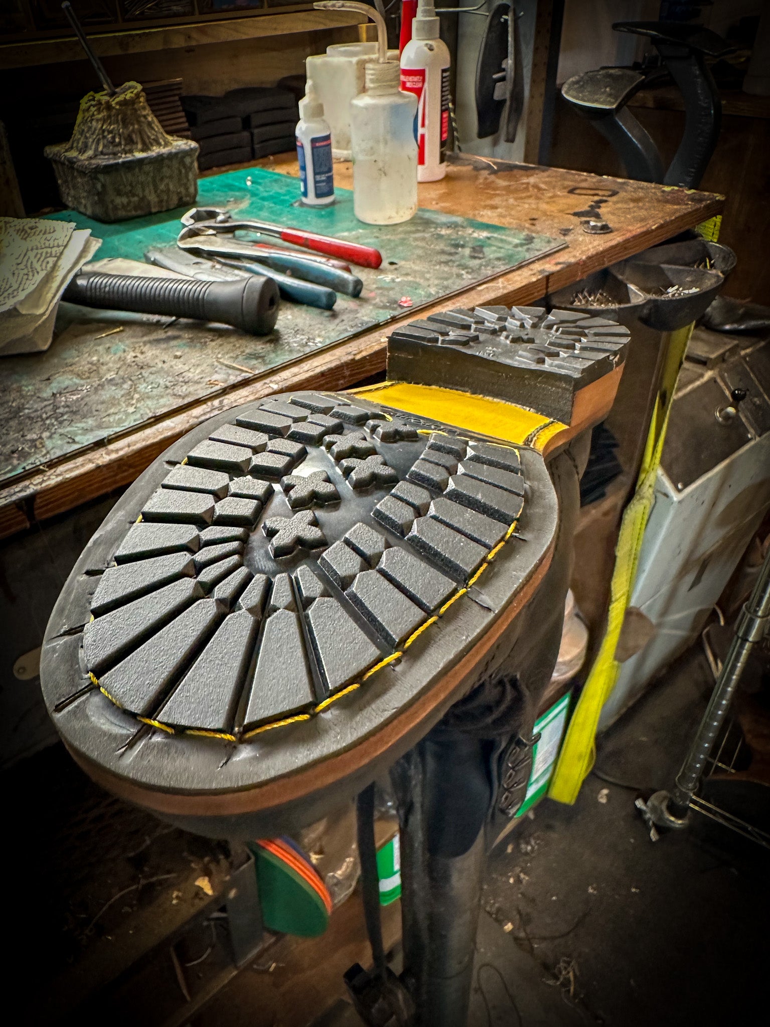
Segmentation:
[(745, 668), (748, 655), (768, 626), (770, 618), (770, 546), (759, 576), (738, 617), (730, 649), (714, 686), (711, 698), (703, 714), (690, 752), (677, 775), (677, 784), (668, 801), (668, 811), (684, 819), (690, 800), (703, 774), (708, 754), (725, 720), (733, 692)]

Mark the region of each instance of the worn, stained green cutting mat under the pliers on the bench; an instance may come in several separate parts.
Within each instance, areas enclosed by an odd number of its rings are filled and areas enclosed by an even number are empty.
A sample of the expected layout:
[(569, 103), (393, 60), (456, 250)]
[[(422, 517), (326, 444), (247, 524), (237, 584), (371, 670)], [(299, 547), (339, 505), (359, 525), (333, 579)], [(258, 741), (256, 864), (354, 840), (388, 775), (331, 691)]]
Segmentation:
[[(403, 314), (399, 301), (405, 297), (417, 308), (565, 244), (436, 211), (420, 210), (401, 225), (363, 225), (353, 215), (349, 190), (338, 189), (333, 206), (305, 207), (298, 204), (298, 179), (258, 167), (201, 179), (198, 190), (200, 206), (227, 206), (245, 217), (377, 246), (382, 266), (355, 268), (363, 279), (360, 297), (341, 295), (334, 310), (282, 303), (275, 331), (265, 338), (63, 304), (46, 352), (0, 363), (0, 479), (108, 441), (385, 324)], [(97, 260), (142, 260), (150, 245), (174, 244), (184, 213), (167, 211), (114, 225), (72, 211), (51, 217), (90, 228), (103, 239)], [(115, 328), (121, 331), (112, 332)]]

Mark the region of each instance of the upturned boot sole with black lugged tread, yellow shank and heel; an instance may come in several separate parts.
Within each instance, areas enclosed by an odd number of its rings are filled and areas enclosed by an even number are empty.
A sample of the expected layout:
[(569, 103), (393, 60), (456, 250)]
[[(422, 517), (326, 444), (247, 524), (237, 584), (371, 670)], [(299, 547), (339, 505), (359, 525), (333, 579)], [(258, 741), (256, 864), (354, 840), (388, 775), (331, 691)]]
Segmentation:
[[(218, 837), (360, 791), (532, 599), (559, 527), (543, 453), (606, 413), (626, 342), (574, 312), (449, 311), (393, 333), (412, 384), (271, 396), (189, 432), (48, 624), (43, 690), (77, 761)], [(544, 414), (489, 398), (506, 387)]]

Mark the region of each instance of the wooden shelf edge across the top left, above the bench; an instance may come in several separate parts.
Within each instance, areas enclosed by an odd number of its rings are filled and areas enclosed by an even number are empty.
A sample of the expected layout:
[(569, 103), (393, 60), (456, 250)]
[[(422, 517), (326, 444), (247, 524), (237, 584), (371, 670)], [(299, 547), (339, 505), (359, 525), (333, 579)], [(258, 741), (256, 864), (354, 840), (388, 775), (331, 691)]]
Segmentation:
[[(341, 29), (360, 25), (363, 14), (346, 10), (307, 10), (287, 14), (263, 14), (260, 17), (236, 17), (223, 22), (200, 22), (194, 25), (172, 25), (143, 28), (123, 32), (88, 35), (91, 46), (101, 58), (151, 50), (182, 49), (205, 43), (227, 43), (239, 39), (264, 39), (320, 29)], [(0, 67), (32, 68), (38, 65), (61, 64), (84, 60), (80, 43), (70, 39), (39, 39), (31, 42), (0, 45)]]

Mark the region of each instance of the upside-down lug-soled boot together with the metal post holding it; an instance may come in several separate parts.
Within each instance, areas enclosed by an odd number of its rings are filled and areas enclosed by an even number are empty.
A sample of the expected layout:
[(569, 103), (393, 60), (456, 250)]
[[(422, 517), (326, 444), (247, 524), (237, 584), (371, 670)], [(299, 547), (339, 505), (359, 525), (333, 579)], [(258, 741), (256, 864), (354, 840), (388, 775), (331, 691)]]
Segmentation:
[[(398, 328), (384, 384), (270, 396), (175, 443), (51, 615), (48, 709), (113, 794), (236, 846), (358, 796), (374, 968), (347, 983), (369, 1024), (466, 1022), (486, 853), (527, 789), (578, 479), (627, 341), (539, 307)], [(374, 848), (388, 771), (400, 978)]]

